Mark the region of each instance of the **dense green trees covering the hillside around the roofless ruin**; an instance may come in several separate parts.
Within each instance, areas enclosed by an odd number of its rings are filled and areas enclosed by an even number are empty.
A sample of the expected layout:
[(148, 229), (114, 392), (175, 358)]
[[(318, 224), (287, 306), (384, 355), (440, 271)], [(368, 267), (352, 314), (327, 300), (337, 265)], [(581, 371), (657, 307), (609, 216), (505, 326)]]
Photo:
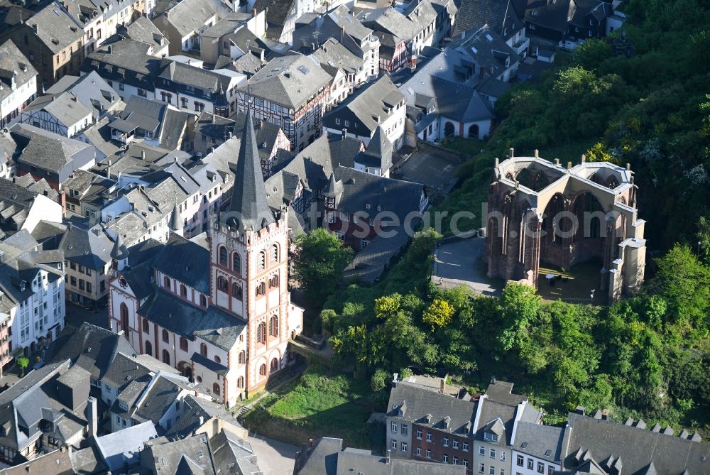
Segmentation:
[(623, 31), (558, 55), (557, 69), (498, 101), (504, 120), (437, 207), (478, 214), (508, 148), (630, 163), (657, 250), (637, 295), (595, 307), (543, 302), (516, 284), (500, 297), (444, 290), (429, 278), (439, 236), (424, 233), (380, 283), (327, 301), (339, 362), (355, 362), (373, 388), (395, 371), (474, 388), (505, 376), (552, 417), (584, 405), (710, 430), (709, 11), (704, 0), (631, 0)]

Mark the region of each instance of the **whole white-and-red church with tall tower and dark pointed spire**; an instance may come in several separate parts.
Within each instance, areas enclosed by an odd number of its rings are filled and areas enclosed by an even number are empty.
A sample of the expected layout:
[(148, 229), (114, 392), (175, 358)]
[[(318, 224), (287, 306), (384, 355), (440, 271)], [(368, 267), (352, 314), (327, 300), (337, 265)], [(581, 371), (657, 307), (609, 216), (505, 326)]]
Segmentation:
[(293, 364), (288, 342), (303, 325), (288, 291), (288, 212), (266, 204), (251, 116), (231, 204), (212, 217), (206, 242), (182, 237), (177, 203), (173, 214), (165, 244), (149, 239), (129, 251), (116, 239), (109, 323), (137, 353), (234, 405)]

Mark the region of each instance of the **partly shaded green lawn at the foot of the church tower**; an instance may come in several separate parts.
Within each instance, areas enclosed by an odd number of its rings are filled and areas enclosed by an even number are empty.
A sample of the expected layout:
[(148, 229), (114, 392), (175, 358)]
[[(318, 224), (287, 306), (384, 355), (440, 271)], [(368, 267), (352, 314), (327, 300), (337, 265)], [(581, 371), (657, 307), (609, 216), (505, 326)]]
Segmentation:
[(366, 422), (373, 411), (385, 409), (376, 402), (378, 395), (371, 395), (366, 382), (314, 365), (261, 400), (244, 423), (258, 434), (297, 445), (342, 437), (346, 447), (370, 447)]

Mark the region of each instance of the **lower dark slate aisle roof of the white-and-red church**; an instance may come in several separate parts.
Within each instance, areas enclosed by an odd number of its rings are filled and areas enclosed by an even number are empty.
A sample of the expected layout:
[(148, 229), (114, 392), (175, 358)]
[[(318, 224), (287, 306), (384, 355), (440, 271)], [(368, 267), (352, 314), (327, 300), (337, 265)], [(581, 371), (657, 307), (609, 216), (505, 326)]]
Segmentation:
[(160, 327), (192, 339), (200, 337), (227, 351), (246, 325), (218, 307), (195, 307), (160, 289), (141, 305), (138, 313)]

